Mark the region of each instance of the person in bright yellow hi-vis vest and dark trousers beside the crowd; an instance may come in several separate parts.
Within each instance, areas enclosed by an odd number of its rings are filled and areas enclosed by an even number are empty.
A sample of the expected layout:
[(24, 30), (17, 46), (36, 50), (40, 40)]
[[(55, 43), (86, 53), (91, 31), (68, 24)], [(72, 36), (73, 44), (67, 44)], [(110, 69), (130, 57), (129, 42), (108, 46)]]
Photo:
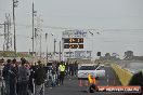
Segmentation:
[(62, 64), (58, 67), (60, 70), (60, 84), (64, 84), (64, 77), (65, 77), (65, 65), (62, 62)]

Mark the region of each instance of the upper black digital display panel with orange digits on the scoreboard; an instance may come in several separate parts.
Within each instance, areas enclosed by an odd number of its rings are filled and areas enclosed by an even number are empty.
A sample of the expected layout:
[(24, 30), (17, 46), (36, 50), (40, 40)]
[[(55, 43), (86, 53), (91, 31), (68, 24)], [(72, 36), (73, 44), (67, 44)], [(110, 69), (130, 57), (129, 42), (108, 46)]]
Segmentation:
[(83, 43), (83, 38), (65, 38), (64, 43)]

